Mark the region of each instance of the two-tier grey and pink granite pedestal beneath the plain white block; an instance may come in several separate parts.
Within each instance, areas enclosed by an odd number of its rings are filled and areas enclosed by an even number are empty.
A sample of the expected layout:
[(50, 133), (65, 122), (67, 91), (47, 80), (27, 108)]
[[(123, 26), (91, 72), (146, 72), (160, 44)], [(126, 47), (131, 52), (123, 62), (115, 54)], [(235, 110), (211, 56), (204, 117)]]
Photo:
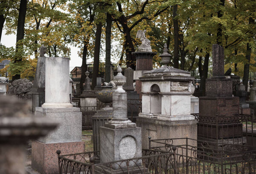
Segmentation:
[(32, 142), (33, 169), (41, 174), (58, 173), (57, 150), (65, 154), (84, 152), (84, 142), (81, 141), (82, 114), (79, 108), (42, 108), (37, 107), (35, 117), (45, 117), (60, 122), (55, 131), (46, 137)]

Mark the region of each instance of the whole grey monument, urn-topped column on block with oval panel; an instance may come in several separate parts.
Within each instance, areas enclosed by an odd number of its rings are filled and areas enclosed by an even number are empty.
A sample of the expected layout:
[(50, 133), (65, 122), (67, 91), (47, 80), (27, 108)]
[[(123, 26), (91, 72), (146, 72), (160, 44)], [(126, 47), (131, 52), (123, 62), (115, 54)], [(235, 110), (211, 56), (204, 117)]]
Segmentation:
[[(142, 156), (141, 129), (127, 118), (127, 94), (122, 89), (126, 77), (122, 75), (120, 66), (117, 71), (118, 74), (113, 78), (117, 86), (116, 91), (113, 92), (113, 117), (112, 120), (105, 123), (104, 127), (100, 127), (99, 132), (102, 163)], [(129, 163), (129, 165), (137, 166), (141, 165), (141, 162)], [(118, 173), (122, 167), (127, 167), (127, 164), (115, 164), (113, 168), (117, 171), (113, 173)]]

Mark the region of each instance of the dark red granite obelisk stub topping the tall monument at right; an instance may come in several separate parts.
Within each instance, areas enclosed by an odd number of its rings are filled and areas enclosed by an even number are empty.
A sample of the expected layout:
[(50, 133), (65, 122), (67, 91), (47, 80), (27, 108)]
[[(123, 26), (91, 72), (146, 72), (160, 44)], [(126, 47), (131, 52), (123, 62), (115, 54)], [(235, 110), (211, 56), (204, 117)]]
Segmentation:
[(224, 48), (212, 45), (212, 77), (224, 77)]

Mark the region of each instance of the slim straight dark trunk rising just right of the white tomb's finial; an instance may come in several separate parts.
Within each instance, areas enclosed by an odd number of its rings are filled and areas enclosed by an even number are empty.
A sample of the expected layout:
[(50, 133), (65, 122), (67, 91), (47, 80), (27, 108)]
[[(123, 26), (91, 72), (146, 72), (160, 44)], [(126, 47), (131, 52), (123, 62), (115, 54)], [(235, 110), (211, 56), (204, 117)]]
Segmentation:
[(174, 56), (173, 56), (173, 66), (174, 68), (179, 68), (179, 26), (178, 20), (175, 19), (177, 16), (177, 7), (176, 4), (173, 6), (173, 29), (174, 29)]

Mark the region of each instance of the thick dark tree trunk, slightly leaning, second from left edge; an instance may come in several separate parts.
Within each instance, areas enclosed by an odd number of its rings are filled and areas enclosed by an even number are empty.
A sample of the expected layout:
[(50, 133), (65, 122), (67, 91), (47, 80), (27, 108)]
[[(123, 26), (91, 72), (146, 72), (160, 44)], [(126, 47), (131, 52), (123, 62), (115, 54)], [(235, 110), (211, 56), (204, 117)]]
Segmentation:
[[(27, 0), (20, 0), (20, 10), (17, 24), (16, 56), (14, 63), (22, 61), (23, 44), (18, 42), (24, 38), (24, 26), (26, 18)], [(22, 50), (21, 52), (19, 50)], [(20, 79), (20, 74), (15, 74), (12, 81)]]

